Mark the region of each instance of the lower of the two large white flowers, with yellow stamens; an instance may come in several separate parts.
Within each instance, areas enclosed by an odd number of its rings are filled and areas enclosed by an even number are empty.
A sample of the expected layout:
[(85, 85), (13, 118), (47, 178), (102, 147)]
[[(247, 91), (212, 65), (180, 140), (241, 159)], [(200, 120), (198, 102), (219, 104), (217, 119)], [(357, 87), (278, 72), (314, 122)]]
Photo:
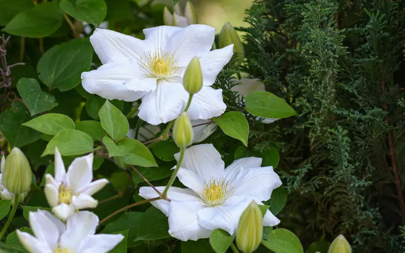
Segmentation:
[[(175, 155), (178, 160), (179, 154)], [(233, 234), (240, 215), (254, 200), (270, 199), (273, 189), (281, 185), (273, 167), (260, 167), (261, 158), (235, 160), (225, 168), (221, 154), (212, 144), (201, 144), (186, 149), (178, 173), (179, 180), (188, 187), (171, 187), (171, 201), (151, 202), (169, 217), (169, 233), (180, 240), (207, 238), (217, 228)], [(157, 187), (159, 191), (165, 187)], [(139, 195), (157, 197), (151, 187), (141, 187)], [(274, 226), (280, 221), (267, 210), (263, 224)]]

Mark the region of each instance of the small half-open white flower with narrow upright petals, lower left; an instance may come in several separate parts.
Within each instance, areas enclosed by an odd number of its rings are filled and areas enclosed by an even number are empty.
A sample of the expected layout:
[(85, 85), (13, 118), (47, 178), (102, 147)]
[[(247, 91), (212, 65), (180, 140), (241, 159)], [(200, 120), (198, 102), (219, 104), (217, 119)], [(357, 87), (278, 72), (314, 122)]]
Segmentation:
[(93, 153), (77, 157), (69, 165), (67, 173), (62, 156), (55, 149), (55, 178), (45, 175), (45, 196), (52, 213), (61, 220), (72, 216), (75, 210), (95, 208), (98, 201), (92, 195), (101, 190), (107, 179), (93, 181)]

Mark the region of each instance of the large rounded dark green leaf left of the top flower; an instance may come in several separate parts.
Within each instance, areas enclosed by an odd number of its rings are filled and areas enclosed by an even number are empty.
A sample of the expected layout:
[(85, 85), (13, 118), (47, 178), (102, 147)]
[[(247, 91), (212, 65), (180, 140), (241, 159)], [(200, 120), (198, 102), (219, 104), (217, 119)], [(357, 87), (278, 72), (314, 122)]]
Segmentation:
[(90, 69), (93, 47), (89, 38), (73, 39), (56, 45), (39, 59), (36, 70), (49, 89), (68, 91), (77, 86), (82, 72)]

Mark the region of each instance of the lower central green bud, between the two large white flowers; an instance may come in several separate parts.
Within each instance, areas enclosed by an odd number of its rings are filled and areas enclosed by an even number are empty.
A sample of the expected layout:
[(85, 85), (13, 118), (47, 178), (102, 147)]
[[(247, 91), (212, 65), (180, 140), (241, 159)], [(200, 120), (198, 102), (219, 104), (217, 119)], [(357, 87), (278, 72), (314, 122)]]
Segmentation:
[(193, 137), (193, 127), (190, 119), (187, 112), (183, 112), (174, 122), (173, 139), (178, 147), (185, 148), (191, 145)]

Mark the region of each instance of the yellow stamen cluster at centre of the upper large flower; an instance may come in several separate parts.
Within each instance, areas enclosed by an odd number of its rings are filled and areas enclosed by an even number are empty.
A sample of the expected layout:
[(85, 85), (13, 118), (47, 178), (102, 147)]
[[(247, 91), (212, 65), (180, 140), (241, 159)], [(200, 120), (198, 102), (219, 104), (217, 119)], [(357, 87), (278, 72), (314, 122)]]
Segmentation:
[(146, 74), (157, 79), (169, 78), (178, 69), (177, 60), (174, 59), (173, 54), (165, 50), (145, 53), (141, 57), (139, 66)]

